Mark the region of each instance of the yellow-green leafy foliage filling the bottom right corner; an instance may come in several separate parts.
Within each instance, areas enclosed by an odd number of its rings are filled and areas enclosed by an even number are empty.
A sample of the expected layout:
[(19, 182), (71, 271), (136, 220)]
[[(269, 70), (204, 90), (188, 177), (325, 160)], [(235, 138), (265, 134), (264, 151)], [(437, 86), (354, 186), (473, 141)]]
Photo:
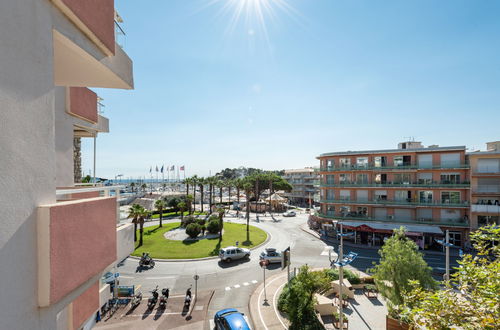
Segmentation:
[(427, 329), (500, 329), (500, 227), (482, 227), (470, 239), (477, 254), (458, 261), (443, 290), (412, 282), (400, 310), (408, 323)]

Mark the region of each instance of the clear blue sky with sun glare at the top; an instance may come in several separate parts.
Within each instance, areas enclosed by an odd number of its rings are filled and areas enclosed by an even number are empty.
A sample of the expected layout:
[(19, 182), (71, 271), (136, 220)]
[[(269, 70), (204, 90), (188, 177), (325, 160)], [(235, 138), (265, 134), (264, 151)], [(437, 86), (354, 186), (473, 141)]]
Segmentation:
[[(261, 8), (259, 12), (258, 8)], [(94, 89), (98, 177), (317, 166), (500, 140), (500, 2), (116, 0), (134, 90)], [(238, 8), (241, 7), (238, 16)], [(92, 141), (83, 141), (83, 170)]]

